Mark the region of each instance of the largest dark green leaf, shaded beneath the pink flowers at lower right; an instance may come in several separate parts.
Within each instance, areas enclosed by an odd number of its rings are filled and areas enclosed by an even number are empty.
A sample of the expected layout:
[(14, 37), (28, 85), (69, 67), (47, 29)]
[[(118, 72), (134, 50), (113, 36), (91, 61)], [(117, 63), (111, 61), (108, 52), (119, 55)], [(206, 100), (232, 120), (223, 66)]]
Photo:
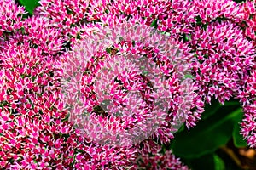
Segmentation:
[(176, 133), (171, 146), (173, 153), (182, 158), (196, 158), (213, 153), (219, 146), (226, 144), (242, 115), (240, 107), (227, 114), (229, 107), (226, 110), (222, 107), (218, 114), (198, 122), (190, 131), (186, 129)]

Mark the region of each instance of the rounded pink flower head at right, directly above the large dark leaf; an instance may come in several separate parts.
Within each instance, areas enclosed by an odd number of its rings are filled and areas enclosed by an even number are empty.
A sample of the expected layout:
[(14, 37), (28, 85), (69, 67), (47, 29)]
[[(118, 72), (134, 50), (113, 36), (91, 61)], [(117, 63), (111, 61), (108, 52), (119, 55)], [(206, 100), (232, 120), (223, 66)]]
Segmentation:
[(230, 22), (209, 24), (205, 31), (196, 27), (190, 43), (196, 56), (191, 65), (201, 96), (210, 103), (215, 95), (224, 103), (236, 95), (244, 73), (254, 65), (253, 43)]

